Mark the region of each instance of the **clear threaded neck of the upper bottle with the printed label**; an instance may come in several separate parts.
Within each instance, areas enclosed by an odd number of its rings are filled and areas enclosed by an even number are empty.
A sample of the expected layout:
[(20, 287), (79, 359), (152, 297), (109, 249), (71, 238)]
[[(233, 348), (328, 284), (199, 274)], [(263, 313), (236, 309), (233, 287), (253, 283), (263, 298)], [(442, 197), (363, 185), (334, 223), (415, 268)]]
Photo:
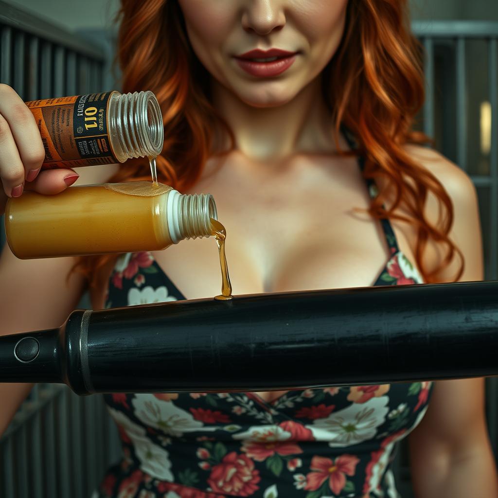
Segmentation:
[(121, 95), (113, 92), (109, 102), (109, 132), (120, 162), (133, 157), (156, 157), (164, 142), (159, 103), (150, 92)]

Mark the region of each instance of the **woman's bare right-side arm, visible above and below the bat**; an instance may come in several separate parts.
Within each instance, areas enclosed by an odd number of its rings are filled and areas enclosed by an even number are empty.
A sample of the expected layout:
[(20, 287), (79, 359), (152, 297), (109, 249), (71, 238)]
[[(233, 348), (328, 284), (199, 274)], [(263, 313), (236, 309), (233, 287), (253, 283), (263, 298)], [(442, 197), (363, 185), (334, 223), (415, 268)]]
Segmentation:
[[(450, 238), (465, 257), (459, 281), (481, 281), (483, 249), (476, 189), (465, 172), (440, 156), (429, 169), (453, 202)], [(427, 216), (435, 222), (436, 215), (433, 205)], [(452, 281), (458, 263), (459, 259), (454, 260), (445, 271), (445, 281)], [(408, 442), (417, 498), (498, 496), (496, 464), (486, 428), (484, 378), (435, 382), (427, 412)]]

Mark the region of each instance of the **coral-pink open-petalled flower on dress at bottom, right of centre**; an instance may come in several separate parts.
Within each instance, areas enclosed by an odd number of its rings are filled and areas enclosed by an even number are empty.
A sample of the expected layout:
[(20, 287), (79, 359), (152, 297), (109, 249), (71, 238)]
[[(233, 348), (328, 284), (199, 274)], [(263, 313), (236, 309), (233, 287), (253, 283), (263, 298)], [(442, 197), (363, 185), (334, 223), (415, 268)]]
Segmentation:
[(314, 456), (310, 472), (306, 476), (306, 491), (316, 491), (328, 479), (329, 487), (334, 495), (339, 495), (346, 486), (346, 475), (354, 476), (356, 466), (360, 461), (353, 455), (341, 455), (333, 462), (330, 458)]

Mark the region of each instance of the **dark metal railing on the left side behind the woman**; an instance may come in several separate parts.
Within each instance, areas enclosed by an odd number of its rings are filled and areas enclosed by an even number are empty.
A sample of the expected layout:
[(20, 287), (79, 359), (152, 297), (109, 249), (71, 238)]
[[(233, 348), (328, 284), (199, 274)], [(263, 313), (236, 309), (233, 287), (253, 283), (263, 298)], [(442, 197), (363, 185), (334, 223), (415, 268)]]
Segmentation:
[[(0, 83), (24, 101), (106, 90), (102, 52), (0, 1)], [(0, 440), (0, 497), (89, 498), (120, 448), (102, 396), (36, 384)]]

